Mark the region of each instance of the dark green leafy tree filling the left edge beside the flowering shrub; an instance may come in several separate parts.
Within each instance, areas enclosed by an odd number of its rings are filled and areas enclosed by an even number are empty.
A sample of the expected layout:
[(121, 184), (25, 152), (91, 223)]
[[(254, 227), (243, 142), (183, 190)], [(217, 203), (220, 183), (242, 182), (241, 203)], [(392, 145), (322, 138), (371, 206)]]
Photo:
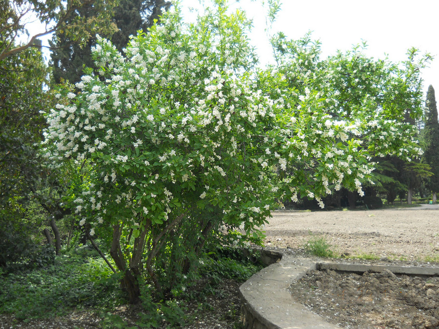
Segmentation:
[[(48, 69), (38, 49), (28, 48), (0, 60), (0, 264), (29, 254), (51, 227), (57, 252), (60, 234), (51, 215), (39, 205), (41, 179), (52, 176), (43, 168), (39, 145), (52, 105), (44, 90)], [(50, 178), (47, 181), (51, 181)], [(50, 225), (49, 225), (50, 224)], [(39, 236), (40, 235), (40, 236)]]

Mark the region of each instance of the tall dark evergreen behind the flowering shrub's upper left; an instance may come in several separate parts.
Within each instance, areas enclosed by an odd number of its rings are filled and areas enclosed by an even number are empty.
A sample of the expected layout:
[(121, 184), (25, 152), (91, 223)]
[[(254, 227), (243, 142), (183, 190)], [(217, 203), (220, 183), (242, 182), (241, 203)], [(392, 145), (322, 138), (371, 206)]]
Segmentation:
[[(136, 35), (139, 30), (146, 31), (153, 25), (154, 19), (159, 19), (162, 10), (167, 10), (170, 5), (171, 3), (166, 0), (121, 0), (114, 10), (112, 19), (117, 31), (109, 30), (101, 37), (111, 39), (116, 48), (122, 51), (131, 35)], [(80, 10), (72, 13), (67, 21), (76, 20), (78, 16), (85, 20), (94, 17), (96, 9), (92, 5), (81, 7)], [(88, 39), (85, 45), (80, 45), (61, 32), (57, 32), (51, 41), (54, 82), (60, 83), (61, 79), (64, 79), (76, 83), (80, 81), (84, 67), (96, 68), (90, 51), (95, 43), (94, 36)]]

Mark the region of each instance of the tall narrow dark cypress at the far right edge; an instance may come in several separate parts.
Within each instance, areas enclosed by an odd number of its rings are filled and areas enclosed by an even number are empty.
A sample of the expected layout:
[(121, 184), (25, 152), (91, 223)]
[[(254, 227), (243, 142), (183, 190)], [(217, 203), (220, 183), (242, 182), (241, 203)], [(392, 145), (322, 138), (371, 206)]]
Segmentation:
[(436, 202), (436, 193), (439, 192), (439, 123), (435, 90), (432, 85), (428, 87), (425, 108), (426, 121), (423, 132), (425, 150), (423, 160), (424, 163), (430, 165), (433, 173), (433, 176), (426, 180), (426, 186), (432, 192), (433, 201)]

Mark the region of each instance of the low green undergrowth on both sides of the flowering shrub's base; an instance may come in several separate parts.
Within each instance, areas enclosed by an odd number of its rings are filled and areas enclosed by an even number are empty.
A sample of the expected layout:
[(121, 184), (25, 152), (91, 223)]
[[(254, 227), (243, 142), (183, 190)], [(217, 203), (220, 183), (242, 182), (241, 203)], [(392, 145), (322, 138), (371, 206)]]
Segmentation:
[[(182, 275), (180, 286), (167, 300), (153, 298), (145, 284), (141, 312), (136, 327), (119, 315), (117, 306), (127, 304), (114, 274), (93, 250), (81, 248), (57, 256), (53, 265), (28, 271), (0, 271), (0, 313), (14, 314), (18, 320), (63, 316), (73, 310), (100, 314), (102, 328), (167, 328), (194, 321), (194, 314), (212, 311), (208, 297), (220, 295), (223, 280), (244, 282), (262, 266), (258, 255), (244, 256), (233, 248), (219, 247), (202, 255), (198, 267)], [(192, 315), (188, 305), (198, 303)]]

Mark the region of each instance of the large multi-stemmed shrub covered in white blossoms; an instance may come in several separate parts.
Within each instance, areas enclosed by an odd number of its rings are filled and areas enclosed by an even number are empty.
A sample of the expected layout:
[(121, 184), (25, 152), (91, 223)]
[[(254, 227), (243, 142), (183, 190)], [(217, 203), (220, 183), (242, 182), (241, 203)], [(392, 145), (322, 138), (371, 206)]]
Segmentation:
[(362, 193), (371, 177), (367, 120), (330, 115), (329, 92), (292, 88), (284, 66), (257, 74), (250, 22), (216, 2), (195, 25), (166, 13), (124, 55), (98, 38), (100, 71), (60, 90), (48, 115), (49, 156), (90, 169), (80, 225), (110, 232), (132, 301), (142, 279), (169, 290), (222, 229), (258, 237), (279, 199), (323, 207), (322, 195)]

